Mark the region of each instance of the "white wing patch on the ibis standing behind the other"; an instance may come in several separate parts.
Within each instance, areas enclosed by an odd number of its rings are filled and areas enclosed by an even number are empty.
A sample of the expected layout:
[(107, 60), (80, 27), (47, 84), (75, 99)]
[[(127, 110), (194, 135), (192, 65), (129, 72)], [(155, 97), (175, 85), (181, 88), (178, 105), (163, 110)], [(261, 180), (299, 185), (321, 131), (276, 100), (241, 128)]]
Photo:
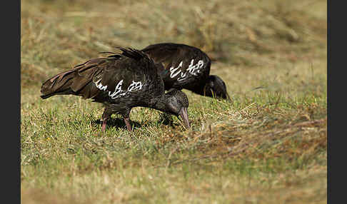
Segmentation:
[(203, 68), (203, 61), (199, 60), (198, 63), (196, 63), (195, 65), (194, 63), (194, 59), (191, 60), (191, 63), (189, 64), (186, 72), (182, 72), (181, 68), (183, 66), (183, 61), (181, 61), (181, 63), (179, 63), (179, 65), (174, 68), (174, 66), (172, 66), (170, 68), (170, 77), (174, 78), (176, 77), (178, 74), (180, 74), (177, 78), (177, 81), (183, 81), (184, 79), (186, 79), (186, 75), (187, 73), (191, 73), (191, 75), (193, 76), (198, 76), (198, 73), (200, 73), (201, 68)]

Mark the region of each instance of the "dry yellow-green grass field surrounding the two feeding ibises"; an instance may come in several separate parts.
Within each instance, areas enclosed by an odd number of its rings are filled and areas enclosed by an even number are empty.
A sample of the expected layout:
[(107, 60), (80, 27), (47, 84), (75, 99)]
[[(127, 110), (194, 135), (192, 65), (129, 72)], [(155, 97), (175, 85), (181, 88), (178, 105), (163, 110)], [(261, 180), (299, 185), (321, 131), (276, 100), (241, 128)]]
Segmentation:
[[(233, 101), (185, 91), (191, 130), (134, 108), (134, 132), (41, 83), (113, 51), (206, 51)], [(22, 203), (326, 203), (326, 1), (21, 1)]]

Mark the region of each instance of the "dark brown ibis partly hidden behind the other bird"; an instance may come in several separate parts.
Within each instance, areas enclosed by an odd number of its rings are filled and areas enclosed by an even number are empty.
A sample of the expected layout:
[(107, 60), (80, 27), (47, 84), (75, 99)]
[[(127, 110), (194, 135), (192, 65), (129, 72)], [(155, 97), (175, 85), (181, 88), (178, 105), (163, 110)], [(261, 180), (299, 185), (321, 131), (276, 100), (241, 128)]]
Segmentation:
[(225, 98), (230, 101), (226, 83), (210, 75), (211, 59), (206, 53), (185, 44), (152, 44), (142, 49), (159, 67), (166, 90), (183, 88), (202, 96)]

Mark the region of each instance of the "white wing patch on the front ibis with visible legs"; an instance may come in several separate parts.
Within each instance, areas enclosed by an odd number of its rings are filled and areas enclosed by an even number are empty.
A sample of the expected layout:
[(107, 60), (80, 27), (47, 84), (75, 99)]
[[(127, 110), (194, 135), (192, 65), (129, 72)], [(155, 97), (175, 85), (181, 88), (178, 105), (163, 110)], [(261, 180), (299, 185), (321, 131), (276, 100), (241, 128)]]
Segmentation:
[[(99, 88), (101, 91), (107, 91), (107, 85), (106, 86), (102, 85), (100, 81), (101, 81), (101, 79), (99, 81), (94, 82), (96, 88)], [(114, 88), (114, 92), (108, 91), (109, 96), (112, 99), (119, 98), (121, 96), (126, 96), (126, 94), (129, 92), (138, 91), (138, 90), (141, 90), (143, 88), (141, 81), (133, 81), (129, 85), (129, 87), (126, 89), (126, 91), (121, 89), (122, 84), (123, 84), (123, 79), (121, 81), (119, 81), (119, 83), (117, 83), (116, 88)]]

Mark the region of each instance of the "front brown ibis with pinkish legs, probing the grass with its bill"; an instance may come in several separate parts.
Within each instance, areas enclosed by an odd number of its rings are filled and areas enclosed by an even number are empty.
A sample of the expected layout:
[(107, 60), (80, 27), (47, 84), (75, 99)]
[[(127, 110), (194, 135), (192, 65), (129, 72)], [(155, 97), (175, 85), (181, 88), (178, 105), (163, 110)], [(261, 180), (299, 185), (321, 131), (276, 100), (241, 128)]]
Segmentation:
[(49, 78), (41, 86), (41, 98), (71, 94), (104, 104), (102, 131), (113, 113), (123, 116), (126, 128), (132, 131), (130, 111), (137, 106), (181, 116), (189, 128), (186, 94), (178, 90), (165, 93), (157, 66), (143, 51), (118, 49), (122, 53), (106, 52), (111, 55), (92, 58)]

